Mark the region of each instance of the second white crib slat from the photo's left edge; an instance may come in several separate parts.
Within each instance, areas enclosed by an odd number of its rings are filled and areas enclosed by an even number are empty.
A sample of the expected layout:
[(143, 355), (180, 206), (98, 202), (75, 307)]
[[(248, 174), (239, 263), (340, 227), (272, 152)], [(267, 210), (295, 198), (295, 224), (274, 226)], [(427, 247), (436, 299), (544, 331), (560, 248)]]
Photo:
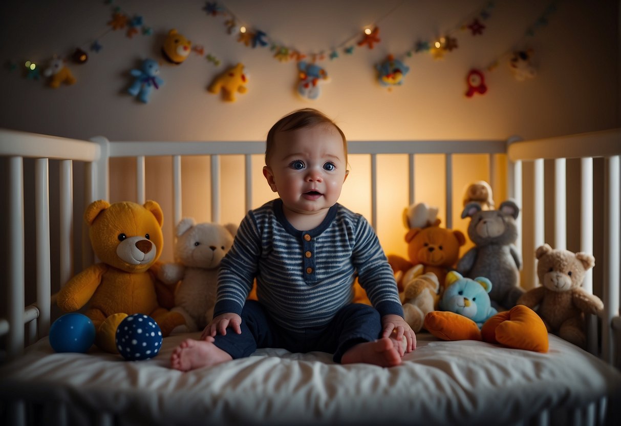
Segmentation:
[(37, 158), (35, 163), (35, 227), (37, 231), (37, 307), (39, 337), (50, 330), (50, 182), (48, 159)]

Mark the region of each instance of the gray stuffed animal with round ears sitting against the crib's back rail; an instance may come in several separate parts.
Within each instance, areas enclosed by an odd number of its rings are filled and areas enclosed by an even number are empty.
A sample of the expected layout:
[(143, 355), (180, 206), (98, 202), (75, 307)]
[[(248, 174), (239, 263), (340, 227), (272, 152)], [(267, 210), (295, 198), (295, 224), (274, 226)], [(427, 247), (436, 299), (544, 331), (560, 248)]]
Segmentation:
[(515, 219), (520, 209), (514, 201), (503, 201), (498, 210), (481, 210), (477, 202), (466, 204), (461, 218), (470, 217), (468, 237), (476, 244), (457, 262), (456, 270), (463, 276), (484, 276), (492, 282), (489, 298), (501, 310), (515, 306), (524, 294), (520, 288), (522, 256), (514, 243), (517, 240)]

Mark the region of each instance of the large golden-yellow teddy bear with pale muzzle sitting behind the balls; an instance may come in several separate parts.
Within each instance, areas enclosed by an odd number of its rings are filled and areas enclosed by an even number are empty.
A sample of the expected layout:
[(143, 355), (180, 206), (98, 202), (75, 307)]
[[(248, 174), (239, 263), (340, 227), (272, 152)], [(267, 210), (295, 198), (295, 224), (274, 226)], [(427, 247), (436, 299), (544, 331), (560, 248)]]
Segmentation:
[(86, 312), (97, 330), (95, 343), (116, 353), (115, 334), (120, 322), (132, 314), (150, 315), (164, 336), (184, 319), (158, 303), (153, 265), (163, 247), (163, 213), (147, 201), (109, 204), (99, 200), (84, 212), (93, 250), (101, 263), (70, 279), (58, 293), (57, 304), (73, 312), (89, 304)]

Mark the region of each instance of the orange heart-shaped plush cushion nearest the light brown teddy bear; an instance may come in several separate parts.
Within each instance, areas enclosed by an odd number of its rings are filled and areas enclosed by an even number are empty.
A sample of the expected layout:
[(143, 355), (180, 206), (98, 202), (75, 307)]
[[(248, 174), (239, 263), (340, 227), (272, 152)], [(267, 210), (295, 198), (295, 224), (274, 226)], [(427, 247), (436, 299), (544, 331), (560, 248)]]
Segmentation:
[(484, 342), (501, 343), (510, 348), (536, 352), (548, 351), (548, 330), (534, 310), (517, 305), (499, 312), (483, 324)]

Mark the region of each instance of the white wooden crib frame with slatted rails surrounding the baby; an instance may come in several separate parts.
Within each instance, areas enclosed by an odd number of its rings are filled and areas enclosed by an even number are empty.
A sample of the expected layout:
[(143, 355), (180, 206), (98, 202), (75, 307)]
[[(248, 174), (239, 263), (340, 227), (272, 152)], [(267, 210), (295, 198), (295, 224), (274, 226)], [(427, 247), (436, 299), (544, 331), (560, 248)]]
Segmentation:
[[(544, 242), (550, 243), (555, 248), (566, 248), (568, 235), (566, 206), (568, 197), (574, 194), (571, 188), (576, 185), (574, 181), (570, 183), (566, 181), (566, 176), (570, 175), (567, 173), (569, 168), (567, 165), (570, 164), (572, 168), (578, 165), (581, 173), (579, 176), (581, 194), (579, 206), (581, 207), (579, 231), (576, 232), (579, 232), (580, 251), (599, 253), (596, 256), (596, 272), (587, 275), (584, 287), (589, 291), (595, 290), (605, 304), (605, 312), (601, 319), (592, 317), (587, 321), (589, 351), (605, 363), (617, 368), (621, 367), (621, 351), (619, 350), (619, 342), (621, 342), (619, 338), (621, 334), (619, 317), (621, 129), (532, 141), (522, 141), (513, 137), (506, 141), (374, 141), (349, 142), (348, 145), (351, 155), (366, 155), (370, 158), (371, 214), (368, 219), (374, 227), (380, 208), (378, 191), (381, 191), (382, 185), (377, 173), (378, 156), (384, 154), (407, 156), (407, 176), (404, 176), (402, 181), (407, 183), (411, 204), (414, 201), (420, 201), (417, 200), (414, 191), (415, 158), (418, 155), (430, 153), (444, 155), (446, 181), (444, 224), (450, 228), (453, 226), (454, 211), (461, 207), (453, 205), (454, 193), (460, 190), (460, 188), (454, 188), (456, 185), (453, 179), (453, 158), (456, 155), (469, 153), (487, 155), (490, 170), (489, 181), (492, 183), (492, 188), (499, 188), (506, 184), (506, 193), (513, 197), (518, 205), (524, 206), (520, 220), (524, 233), (519, 242), (522, 245), (525, 262), (523, 274), (528, 274), (527, 281), (534, 280), (532, 282), (535, 283), (537, 281), (533, 256), (535, 248)], [(2, 156), (0, 165), (5, 168), (4, 176), (0, 177), (5, 178), (3, 180), (6, 183), (2, 191), (7, 199), (7, 217), (3, 224), (7, 237), (2, 239), (8, 240), (7, 247), (9, 248), (3, 255), (4, 264), (1, 265), (7, 270), (4, 274), (6, 278), (2, 278), (6, 279), (3, 281), (6, 285), (2, 284), (3, 291), (6, 291), (6, 296), (4, 296), (6, 297), (6, 314), (0, 311), (0, 314), (6, 315), (6, 318), (0, 319), (4, 362), (9, 365), (11, 362), (19, 363), (20, 358), (24, 356), (25, 348), (35, 342), (37, 344), (33, 346), (36, 349), (32, 351), (40, 351), (43, 345), (40, 342), (45, 340), (53, 319), (53, 283), (65, 283), (77, 272), (76, 270), (79, 271), (93, 262), (88, 235), (86, 232), (81, 232), (81, 211), (91, 201), (109, 199), (109, 161), (111, 158), (135, 158), (137, 171), (135, 189), (137, 199), (135, 201), (142, 203), (145, 201), (145, 157), (170, 156), (173, 165), (173, 215), (169, 220), (176, 224), (183, 213), (181, 208), (181, 158), (183, 156), (206, 155), (210, 157), (211, 218), (214, 222), (220, 222), (220, 201), (223, 197), (220, 192), (222, 183), (220, 159), (227, 155), (243, 155), (245, 176), (244, 188), (240, 191), (245, 194), (247, 210), (253, 205), (252, 158), (256, 155), (263, 155), (263, 152), (263, 142), (109, 142), (104, 137), (94, 137), (93, 140), (86, 141), (0, 129), (0, 155)], [(505, 159), (506, 165), (499, 163)], [(50, 176), (55, 176), (56, 173), (48, 169), (50, 161), (56, 163), (57, 160), (59, 164), (58, 190), (51, 191)], [(34, 193), (24, 190), (24, 179), (28, 177), (24, 176), (26, 161), (29, 161), (29, 167), (30, 165), (34, 167)], [(551, 173), (546, 173), (548, 165), (551, 165)], [(75, 178), (74, 170), (79, 171), (78, 178)], [(499, 170), (507, 170), (505, 178), (497, 178), (499, 174), (502, 175), (498, 173)], [(74, 194), (74, 189), (82, 186), (84, 194)], [(550, 196), (544, 195), (550, 191), (550, 188), (553, 193), (553, 214), (545, 211), (544, 207), (546, 199), (551, 199)], [(57, 199), (50, 200), (51, 193), (57, 195)], [(30, 225), (29, 218), (33, 217), (29, 215), (29, 212), (25, 212), (25, 205), (34, 208), (34, 219), (32, 219), (34, 220), (34, 237), (32, 232), (25, 235), (25, 220), (29, 220)], [(603, 209), (599, 208), (600, 205)], [(56, 230), (51, 232), (50, 229), (57, 226), (50, 222), (50, 206), (58, 206), (60, 211), (58, 238), (50, 237), (50, 235), (56, 235)], [(553, 232), (550, 232), (549, 227), (546, 232), (546, 222), (553, 225)], [(602, 230), (601, 235), (594, 234), (596, 229)], [(4, 230), (2, 235), (4, 235)], [(553, 235), (553, 241), (546, 241), (545, 235)], [(30, 237), (33, 237), (34, 241)], [(81, 241), (81, 244), (75, 244), (75, 241)], [(31, 261), (30, 258), (25, 259), (24, 255), (25, 245), (32, 244), (36, 245), (35, 261)], [(52, 270), (55, 270), (51, 260), (54, 252), (58, 252), (58, 277), (52, 276)], [(81, 259), (79, 268), (74, 267), (75, 258)], [(35, 262), (35, 265), (31, 262)], [(28, 271), (32, 269), (32, 266), (36, 266), (37, 271), (34, 283), (27, 279)], [(523, 282), (524, 278), (523, 275)], [(36, 301), (24, 308), (25, 292), (29, 291), (29, 288), (35, 289)], [(564, 343), (559, 342), (559, 345), (562, 346)], [(26, 352), (29, 350), (30, 348)], [(578, 348), (572, 350), (579, 351)], [(414, 353), (417, 352), (419, 350)], [(592, 363), (597, 361), (595, 358), (592, 360), (594, 360), (591, 361)], [(604, 365), (604, 363), (601, 364)], [(601, 365), (594, 366), (597, 369), (602, 368)], [(7, 401), (11, 398), (6, 394), (7, 392), (4, 392), (3, 397), (0, 388), (0, 419), (3, 415), (2, 407), (5, 406), (5, 417), (15, 420), (17, 424), (25, 423), (26, 418), (29, 417), (27, 399), (24, 397), (17, 402), (11, 400), (9, 404)], [(571, 419), (574, 419), (575, 424), (602, 424), (605, 420), (604, 407), (607, 397), (610, 395), (599, 396), (595, 402), (589, 401), (588, 404), (574, 406), (573, 412), (565, 410), (570, 414), (564, 415), (569, 415)], [(97, 417), (96, 421), (99, 424), (125, 424), (124, 421), (119, 420), (122, 420), (122, 417), (119, 417), (118, 413), (110, 414), (101, 407), (97, 410), (101, 410), (101, 416)], [(461, 407), (459, 410), (463, 411), (465, 408)], [(538, 409), (536, 415), (531, 414), (528, 419), (519, 420), (516, 424), (533, 422), (555, 424), (551, 417), (553, 412), (555, 411)], [(66, 412), (63, 413), (59, 414), (61, 419), (71, 419)], [(465, 411), (465, 413), (468, 412)], [(343, 418), (336, 416), (323, 420), (325, 424), (333, 424), (337, 420), (342, 421)], [(266, 424), (277, 424), (278, 422), (274, 419), (268, 416), (263, 420)], [(399, 420), (398, 423), (405, 422), (404, 418), (397, 420)], [(63, 423), (60, 420), (58, 422)], [(322, 422), (317, 420), (315, 423)]]

